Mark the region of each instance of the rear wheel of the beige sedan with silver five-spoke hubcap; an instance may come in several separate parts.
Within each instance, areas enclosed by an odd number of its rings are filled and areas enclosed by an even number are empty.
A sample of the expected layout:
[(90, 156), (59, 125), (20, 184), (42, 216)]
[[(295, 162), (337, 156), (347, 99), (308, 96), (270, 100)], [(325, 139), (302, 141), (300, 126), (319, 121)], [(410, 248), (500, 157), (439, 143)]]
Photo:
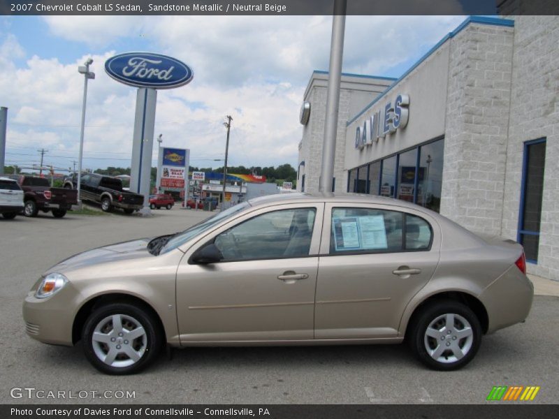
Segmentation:
[(429, 368), (452, 371), (474, 358), (481, 335), (479, 319), (469, 307), (443, 300), (424, 307), (414, 318), (409, 344), (416, 357)]

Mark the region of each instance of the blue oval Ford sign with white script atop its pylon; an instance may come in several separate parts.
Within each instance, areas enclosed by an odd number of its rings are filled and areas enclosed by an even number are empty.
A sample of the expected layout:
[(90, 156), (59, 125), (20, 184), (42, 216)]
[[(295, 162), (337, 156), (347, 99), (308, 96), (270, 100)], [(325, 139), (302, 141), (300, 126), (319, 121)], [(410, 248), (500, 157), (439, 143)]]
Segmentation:
[(105, 71), (118, 82), (136, 87), (172, 89), (194, 77), (181, 61), (152, 52), (126, 52), (105, 61)]

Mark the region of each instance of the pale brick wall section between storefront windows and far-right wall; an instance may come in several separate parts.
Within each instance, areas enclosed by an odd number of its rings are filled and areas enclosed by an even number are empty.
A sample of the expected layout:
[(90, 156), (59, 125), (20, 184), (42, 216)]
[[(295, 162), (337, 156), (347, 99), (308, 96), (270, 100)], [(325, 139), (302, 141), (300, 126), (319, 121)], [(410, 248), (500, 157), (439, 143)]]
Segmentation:
[(501, 232), (514, 29), (470, 24), (451, 39), (441, 214)]

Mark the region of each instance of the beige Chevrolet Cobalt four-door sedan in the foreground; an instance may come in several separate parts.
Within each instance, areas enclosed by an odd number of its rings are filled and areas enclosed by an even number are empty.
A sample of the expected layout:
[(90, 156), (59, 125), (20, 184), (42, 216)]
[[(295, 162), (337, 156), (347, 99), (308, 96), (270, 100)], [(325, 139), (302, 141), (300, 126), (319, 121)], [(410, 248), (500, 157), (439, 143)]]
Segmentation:
[(484, 333), (524, 321), (532, 297), (515, 242), (391, 198), (290, 193), (72, 256), (31, 288), (23, 316), (39, 341), (82, 339), (109, 374), (140, 371), (165, 343), (404, 340), (428, 367), (451, 370)]

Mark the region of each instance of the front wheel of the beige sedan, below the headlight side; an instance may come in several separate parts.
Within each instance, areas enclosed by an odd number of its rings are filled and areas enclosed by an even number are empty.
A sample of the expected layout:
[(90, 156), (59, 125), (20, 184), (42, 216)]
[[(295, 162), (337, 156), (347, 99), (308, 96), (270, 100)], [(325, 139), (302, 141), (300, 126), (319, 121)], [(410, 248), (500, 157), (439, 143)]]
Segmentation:
[[(117, 332), (118, 326), (115, 330), (113, 319), (120, 320), (122, 332)], [(129, 333), (133, 333), (132, 339), (126, 339)], [(113, 375), (136, 374), (154, 362), (161, 349), (161, 336), (159, 323), (152, 315), (128, 303), (95, 309), (82, 329), (87, 360), (99, 371)]]

